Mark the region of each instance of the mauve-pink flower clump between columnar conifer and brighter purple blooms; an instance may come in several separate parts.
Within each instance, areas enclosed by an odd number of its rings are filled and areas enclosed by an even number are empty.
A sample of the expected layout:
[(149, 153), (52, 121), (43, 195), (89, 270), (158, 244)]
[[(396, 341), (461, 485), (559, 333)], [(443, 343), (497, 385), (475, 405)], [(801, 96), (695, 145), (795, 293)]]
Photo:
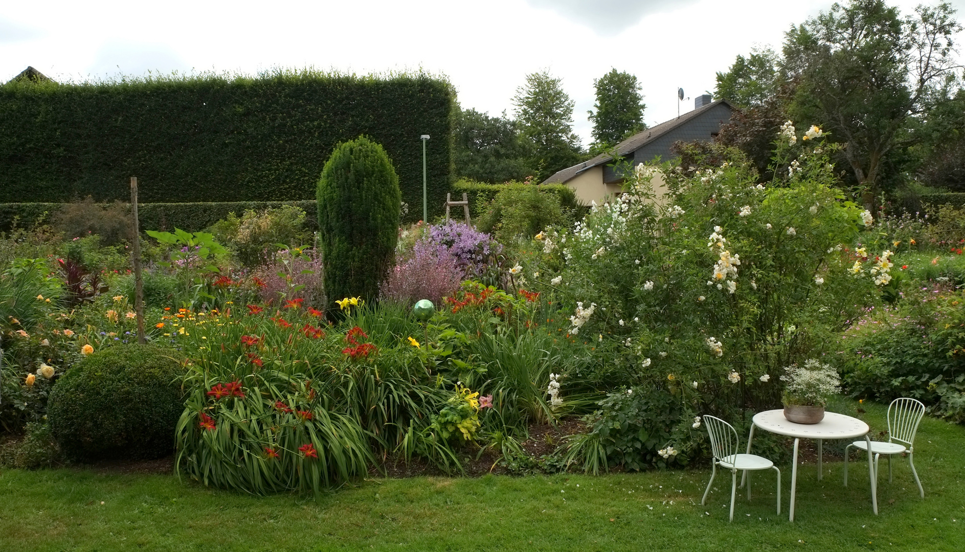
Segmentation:
[(412, 305), (428, 299), (436, 305), (459, 289), (463, 272), (454, 256), (438, 245), (416, 243), (413, 256), (396, 265), (380, 286), (382, 299)]

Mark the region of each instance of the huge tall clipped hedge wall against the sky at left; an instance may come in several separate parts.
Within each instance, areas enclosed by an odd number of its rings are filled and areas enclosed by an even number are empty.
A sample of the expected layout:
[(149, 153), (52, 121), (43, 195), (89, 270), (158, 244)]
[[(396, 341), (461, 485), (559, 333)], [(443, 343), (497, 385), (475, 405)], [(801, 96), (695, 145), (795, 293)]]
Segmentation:
[[(361, 134), (385, 148), (421, 217), (429, 134), (431, 212), (451, 183), (455, 92), (425, 74), (391, 78), (279, 71), (0, 86), (0, 203), (249, 202), (312, 199), (325, 158)], [(418, 212), (417, 212), (418, 211)]]

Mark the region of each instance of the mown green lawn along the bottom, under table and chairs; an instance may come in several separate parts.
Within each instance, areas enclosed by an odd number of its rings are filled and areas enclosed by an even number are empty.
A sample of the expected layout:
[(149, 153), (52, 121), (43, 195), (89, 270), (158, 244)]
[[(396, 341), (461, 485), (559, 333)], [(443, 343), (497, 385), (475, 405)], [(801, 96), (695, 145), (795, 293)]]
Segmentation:
[[(873, 430), (884, 428), (884, 408), (863, 406)], [(965, 428), (925, 419), (917, 444), (924, 500), (905, 460), (894, 483), (882, 463), (877, 516), (867, 463), (852, 464), (847, 488), (840, 462), (825, 462), (822, 482), (807, 464), (793, 523), (786, 465), (782, 514), (774, 478), (761, 472), (751, 504), (738, 491), (733, 523), (730, 474), (718, 476), (702, 507), (703, 469), (372, 480), (317, 500), (250, 497), (170, 476), (13, 470), (0, 473), (0, 550), (962, 550)]]

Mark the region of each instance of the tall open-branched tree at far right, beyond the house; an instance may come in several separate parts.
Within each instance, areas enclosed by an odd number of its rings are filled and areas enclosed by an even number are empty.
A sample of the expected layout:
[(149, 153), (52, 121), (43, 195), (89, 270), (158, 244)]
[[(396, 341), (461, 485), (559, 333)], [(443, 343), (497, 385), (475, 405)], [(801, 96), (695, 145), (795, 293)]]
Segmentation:
[(960, 26), (948, 3), (902, 17), (883, 0), (835, 4), (786, 34), (784, 72), (796, 83), (790, 113), (823, 124), (870, 207), (883, 167), (919, 142), (912, 121), (933, 106), (957, 69)]

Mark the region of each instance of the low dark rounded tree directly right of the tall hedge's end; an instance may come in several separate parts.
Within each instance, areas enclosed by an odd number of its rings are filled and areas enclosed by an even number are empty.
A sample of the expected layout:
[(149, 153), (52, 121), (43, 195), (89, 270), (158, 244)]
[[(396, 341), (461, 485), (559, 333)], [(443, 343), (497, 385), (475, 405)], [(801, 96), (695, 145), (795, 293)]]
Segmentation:
[(489, 117), (475, 109), (459, 110), (453, 131), (453, 161), (457, 177), (489, 183), (522, 180), (530, 168), (530, 143), (520, 124), (507, 117)]

